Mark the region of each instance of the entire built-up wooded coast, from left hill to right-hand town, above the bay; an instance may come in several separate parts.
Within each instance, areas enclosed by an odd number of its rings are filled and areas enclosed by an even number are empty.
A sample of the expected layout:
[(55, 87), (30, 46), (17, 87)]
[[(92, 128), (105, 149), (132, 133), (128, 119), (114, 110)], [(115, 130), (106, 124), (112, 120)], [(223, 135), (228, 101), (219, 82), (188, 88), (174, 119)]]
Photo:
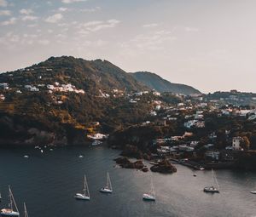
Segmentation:
[(160, 93), (108, 62), (85, 62), (96, 72), (84, 74), (81, 62), (70, 61), (76, 60), (49, 59), (0, 75), (2, 144), (76, 145), (109, 134), (112, 146), (137, 146), (149, 158), (197, 168), (231, 167), (254, 155), (256, 94)]

